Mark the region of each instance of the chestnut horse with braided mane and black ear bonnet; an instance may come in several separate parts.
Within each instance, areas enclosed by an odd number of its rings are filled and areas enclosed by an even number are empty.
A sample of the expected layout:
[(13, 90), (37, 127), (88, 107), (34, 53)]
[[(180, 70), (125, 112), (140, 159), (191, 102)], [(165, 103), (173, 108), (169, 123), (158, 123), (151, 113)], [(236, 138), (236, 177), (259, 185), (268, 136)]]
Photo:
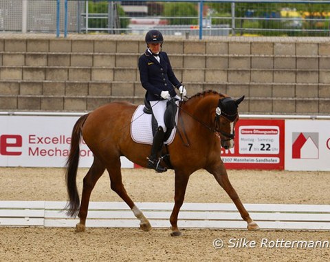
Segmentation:
[[(248, 230), (259, 230), (250, 218), (238, 194), (232, 187), (225, 165), (221, 160), (221, 146), (225, 149), (234, 146), (234, 126), (239, 120), (238, 106), (244, 96), (232, 99), (227, 94), (208, 90), (199, 92), (181, 101), (178, 105), (177, 133), (173, 142), (163, 151), (169, 154), (170, 164), (175, 171), (175, 205), (170, 214), (171, 236), (180, 236), (177, 218), (190, 174), (204, 169), (230, 196), (241, 217), (248, 223)], [(65, 207), (69, 216), (78, 214), (76, 232), (85, 231), (91, 191), (105, 170), (109, 173), (111, 190), (116, 192), (129, 205), (133, 214), (140, 220), (140, 228), (151, 230), (151, 224), (142, 211), (127, 194), (122, 183), (120, 157), (124, 156), (133, 163), (146, 168), (151, 145), (136, 143), (131, 139), (131, 117), (137, 105), (126, 101), (113, 101), (89, 112), (76, 121), (72, 130), (72, 141), (65, 165), (65, 179), (69, 201)], [(94, 154), (91, 168), (83, 179), (81, 204), (76, 185), (79, 161), (79, 143), (83, 137)], [(186, 142), (189, 143), (186, 143)], [(166, 163), (164, 163), (166, 166)]]

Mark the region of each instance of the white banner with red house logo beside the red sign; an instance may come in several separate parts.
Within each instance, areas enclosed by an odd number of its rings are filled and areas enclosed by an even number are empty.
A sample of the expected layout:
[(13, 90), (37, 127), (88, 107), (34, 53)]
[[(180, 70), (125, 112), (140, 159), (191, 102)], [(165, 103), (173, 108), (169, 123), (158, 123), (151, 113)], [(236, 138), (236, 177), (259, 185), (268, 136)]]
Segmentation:
[(285, 170), (330, 170), (330, 121), (285, 121)]

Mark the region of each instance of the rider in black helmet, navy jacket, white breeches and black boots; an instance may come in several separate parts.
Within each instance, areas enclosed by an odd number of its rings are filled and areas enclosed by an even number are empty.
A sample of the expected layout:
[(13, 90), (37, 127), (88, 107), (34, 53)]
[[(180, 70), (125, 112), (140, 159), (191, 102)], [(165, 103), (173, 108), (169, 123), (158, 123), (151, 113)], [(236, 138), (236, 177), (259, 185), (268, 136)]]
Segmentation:
[(150, 30), (146, 33), (145, 41), (146, 52), (139, 58), (140, 80), (143, 88), (146, 89), (146, 100), (150, 102), (158, 123), (147, 167), (157, 172), (165, 172), (166, 168), (160, 165), (157, 154), (162, 149), (164, 132), (166, 132), (164, 123), (166, 102), (177, 96), (175, 88), (178, 88), (183, 96), (186, 95), (186, 88), (175, 77), (166, 52), (161, 51), (164, 41), (162, 33), (158, 30)]

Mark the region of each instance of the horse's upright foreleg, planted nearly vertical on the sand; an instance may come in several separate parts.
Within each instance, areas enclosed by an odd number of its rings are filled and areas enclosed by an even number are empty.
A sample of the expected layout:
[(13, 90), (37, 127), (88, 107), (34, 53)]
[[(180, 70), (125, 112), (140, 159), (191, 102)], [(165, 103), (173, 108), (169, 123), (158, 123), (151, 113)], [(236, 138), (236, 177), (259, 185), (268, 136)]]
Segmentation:
[(178, 174), (175, 171), (175, 196), (174, 196), (174, 208), (172, 214), (170, 214), (170, 225), (172, 232), (171, 236), (181, 236), (181, 232), (177, 227), (177, 216), (179, 215), (180, 208), (184, 203), (184, 195), (186, 194), (186, 188), (189, 180), (189, 175)]

